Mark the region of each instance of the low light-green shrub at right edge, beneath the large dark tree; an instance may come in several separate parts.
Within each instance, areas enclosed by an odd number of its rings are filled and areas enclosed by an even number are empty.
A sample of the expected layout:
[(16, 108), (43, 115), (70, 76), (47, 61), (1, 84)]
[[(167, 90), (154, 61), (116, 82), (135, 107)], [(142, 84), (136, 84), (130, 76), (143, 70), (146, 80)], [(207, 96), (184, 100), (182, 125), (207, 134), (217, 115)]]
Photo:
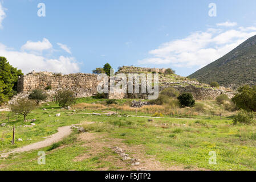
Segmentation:
[(255, 113), (246, 111), (246, 110), (240, 110), (237, 115), (234, 116), (233, 123), (245, 123), (250, 124), (255, 121)]

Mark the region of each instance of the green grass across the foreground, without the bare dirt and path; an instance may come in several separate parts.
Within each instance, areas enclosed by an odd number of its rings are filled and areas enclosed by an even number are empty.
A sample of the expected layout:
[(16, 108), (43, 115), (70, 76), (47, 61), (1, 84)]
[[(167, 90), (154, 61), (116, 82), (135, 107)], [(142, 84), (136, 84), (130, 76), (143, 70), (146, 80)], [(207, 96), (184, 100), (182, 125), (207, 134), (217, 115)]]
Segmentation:
[[(81, 98), (79, 102), (100, 102), (92, 98)], [(124, 101), (119, 101), (124, 102)], [(46, 108), (43, 111), (42, 108)], [(52, 110), (51, 108), (54, 108)], [(127, 146), (141, 145), (145, 148), (146, 155), (154, 155), (166, 166), (184, 166), (184, 169), (205, 168), (211, 170), (255, 170), (256, 169), (256, 126), (233, 125), (232, 118), (210, 117), (200, 115), (195, 119), (188, 118), (148, 118), (117, 117), (115, 115), (88, 115), (78, 113), (100, 113), (102, 111), (78, 110), (71, 115), (67, 110), (59, 109), (51, 103), (43, 105), (31, 113), (28, 119), (35, 118), (36, 126), (24, 123), (22, 117), (18, 122), (10, 121), (7, 126), (0, 127), (0, 133), (17, 127), (16, 139), (22, 138), (23, 142), (11, 145), (11, 132), (0, 141), (0, 151), (25, 146), (30, 143), (44, 140), (56, 133), (58, 127), (68, 126), (83, 121), (94, 122), (85, 125), (85, 129), (96, 134), (104, 134), (109, 140), (123, 139)], [(123, 112), (131, 115), (135, 113)], [(61, 117), (55, 117), (61, 113)], [(6, 113), (7, 114), (7, 113)], [(48, 117), (51, 114), (52, 117)], [(138, 113), (141, 115), (143, 113)], [(147, 114), (144, 114), (147, 115)], [(2, 119), (4, 117), (2, 116)], [(6, 122), (6, 121), (4, 121)], [(114, 161), (102, 160), (107, 156), (115, 155), (108, 148), (104, 152), (92, 155), (82, 161), (74, 160), (81, 154), (89, 154), (90, 148), (83, 141), (78, 140), (79, 134), (72, 134), (61, 142), (52, 144), (40, 150), (46, 152), (46, 165), (38, 165), (37, 152), (23, 152), (0, 160), (0, 170), (97, 170), (99, 168), (120, 169)], [(31, 140), (27, 140), (31, 139)], [(210, 165), (209, 152), (217, 154), (217, 165)]]

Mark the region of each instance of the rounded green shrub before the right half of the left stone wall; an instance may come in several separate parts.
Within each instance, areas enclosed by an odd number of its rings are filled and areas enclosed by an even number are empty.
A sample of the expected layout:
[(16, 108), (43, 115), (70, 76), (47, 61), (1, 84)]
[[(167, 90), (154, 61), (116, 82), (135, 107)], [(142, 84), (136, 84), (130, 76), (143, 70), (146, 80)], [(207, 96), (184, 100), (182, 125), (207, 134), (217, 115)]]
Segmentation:
[(75, 104), (76, 98), (72, 90), (59, 90), (54, 96), (54, 101), (61, 107), (67, 107)]

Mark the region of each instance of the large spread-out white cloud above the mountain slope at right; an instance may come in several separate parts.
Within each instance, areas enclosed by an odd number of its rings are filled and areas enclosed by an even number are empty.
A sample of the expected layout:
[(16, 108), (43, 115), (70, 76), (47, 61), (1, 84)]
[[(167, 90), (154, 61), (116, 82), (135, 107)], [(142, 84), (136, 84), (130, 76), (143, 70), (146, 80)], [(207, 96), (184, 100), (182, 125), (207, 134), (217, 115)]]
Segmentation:
[(237, 30), (210, 28), (193, 32), (184, 39), (163, 43), (149, 51), (149, 57), (138, 64), (170, 64), (175, 67), (204, 67), (224, 56), (246, 39), (256, 34), (256, 27), (239, 27)]

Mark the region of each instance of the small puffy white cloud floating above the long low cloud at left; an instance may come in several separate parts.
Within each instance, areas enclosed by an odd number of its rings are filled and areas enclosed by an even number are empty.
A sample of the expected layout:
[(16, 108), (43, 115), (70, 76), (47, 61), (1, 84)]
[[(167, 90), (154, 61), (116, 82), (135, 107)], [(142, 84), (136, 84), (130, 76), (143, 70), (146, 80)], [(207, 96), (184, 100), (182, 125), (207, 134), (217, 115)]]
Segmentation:
[(42, 52), (47, 49), (51, 49), (52, 44), (50, 41), (46, 38), (43, 38), (42, 41), (38, 42), (32, 42), (31, 40), (27, 41), (26, 44), (24, 44), (21, 47), (22, 51), (37, 51), (37, 52)]

